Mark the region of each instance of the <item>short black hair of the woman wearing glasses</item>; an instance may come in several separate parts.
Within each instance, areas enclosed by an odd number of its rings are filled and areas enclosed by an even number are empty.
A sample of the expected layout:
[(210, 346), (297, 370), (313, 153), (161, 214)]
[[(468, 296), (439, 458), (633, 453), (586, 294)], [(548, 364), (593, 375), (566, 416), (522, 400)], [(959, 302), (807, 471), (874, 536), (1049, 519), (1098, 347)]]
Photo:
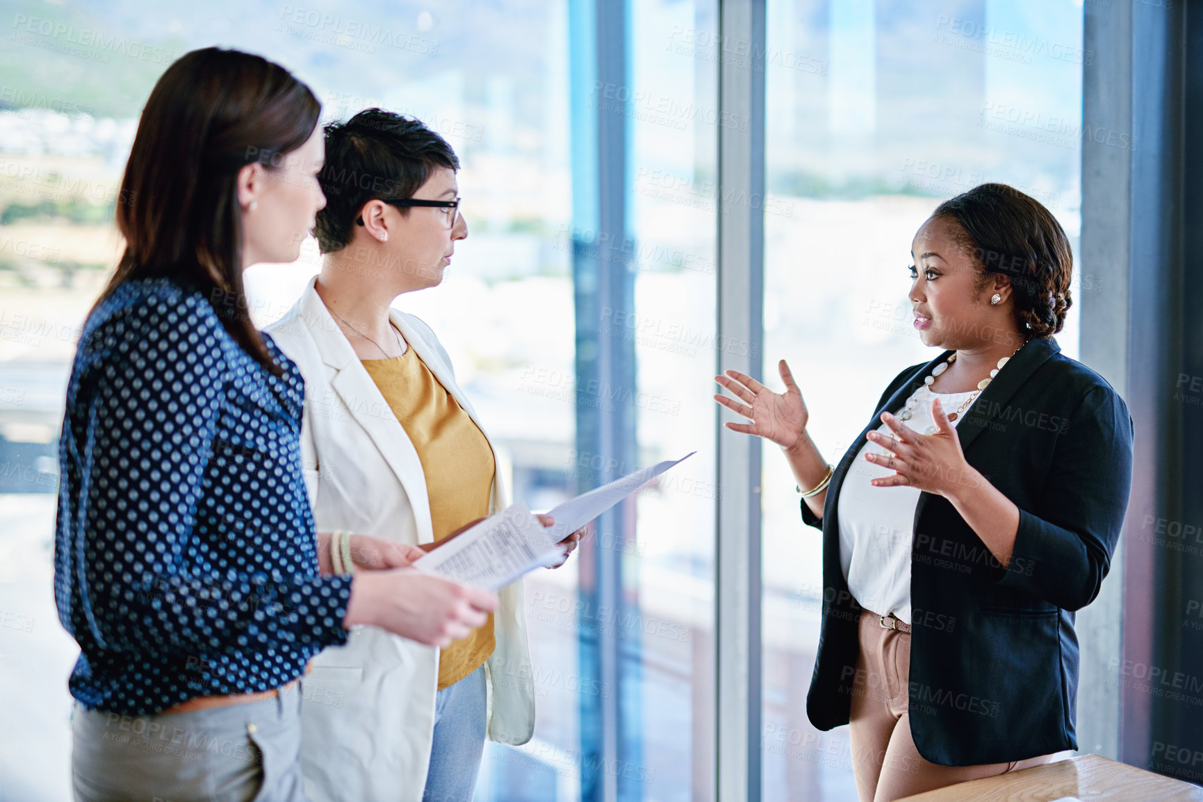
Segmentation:
[(322, 254), (350, 244), (355, 220), (368, 201), (413, 197), (437, 168), (460, 170), (448, 141), (404, 114), (367, 108), (345, 123), (330, 123), (324, 131), (326, 165), (318, 180), (326, 206), (314, 226)]

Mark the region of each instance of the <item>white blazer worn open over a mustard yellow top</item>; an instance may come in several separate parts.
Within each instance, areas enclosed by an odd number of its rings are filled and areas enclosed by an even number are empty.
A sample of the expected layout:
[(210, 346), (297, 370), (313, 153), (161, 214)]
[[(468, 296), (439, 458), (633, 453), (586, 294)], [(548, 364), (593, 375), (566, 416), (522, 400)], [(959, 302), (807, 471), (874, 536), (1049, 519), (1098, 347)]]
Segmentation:
[[(301, 450), (318, 530), (345, 529), (428, 543), (434, 535), (422, 463), (314, 283), (266, 331), (304, 378)], [(396, 309), (390, 317), (409, 347), (480, 426), (434, 332)], [(500, 477), (494, 476), (488, 512), (504, 507)], [(498, 596), (497, 648), (485, 664), (487, 733), (491, 741), (517, 745), (534, 732), (522, 582)], [(345, 646), (327, 648), (314, 659), (313, 671), (302, 682), (302, 766), (306, 791), (314, 802), (421, 800), (434, 726), (438, 655), (437, 648), (374, 626), (356, 626)]]

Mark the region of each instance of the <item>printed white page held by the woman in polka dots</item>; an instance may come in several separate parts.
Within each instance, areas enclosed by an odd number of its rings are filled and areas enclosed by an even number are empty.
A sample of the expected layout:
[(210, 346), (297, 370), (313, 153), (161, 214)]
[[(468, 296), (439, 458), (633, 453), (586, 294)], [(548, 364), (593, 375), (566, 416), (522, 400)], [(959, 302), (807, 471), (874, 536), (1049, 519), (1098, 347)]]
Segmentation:
[(563, 558), (563, 549), (550, 533), (525, 504), (514, 504), (429, 552), (414, 568), (474, 588), (498, 590), (527, 571)]

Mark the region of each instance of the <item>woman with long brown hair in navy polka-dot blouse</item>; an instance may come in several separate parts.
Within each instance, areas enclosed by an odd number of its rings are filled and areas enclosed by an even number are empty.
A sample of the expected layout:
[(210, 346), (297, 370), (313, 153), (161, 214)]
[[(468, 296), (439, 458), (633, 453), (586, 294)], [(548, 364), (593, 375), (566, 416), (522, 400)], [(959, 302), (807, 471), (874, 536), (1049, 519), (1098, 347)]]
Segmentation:
[(301, 467), (304, 384), (242, 271), (297, 257), (325, 204), (320, 106), (207, 48), (155, 84), (122, 184), (125, 253), (84, 325), (60, 439), (55, 599), (78, 641), (76, 798), (302, 800), (298, 678), (357, 624), (446, 646), (494, 595), (343, 539)]

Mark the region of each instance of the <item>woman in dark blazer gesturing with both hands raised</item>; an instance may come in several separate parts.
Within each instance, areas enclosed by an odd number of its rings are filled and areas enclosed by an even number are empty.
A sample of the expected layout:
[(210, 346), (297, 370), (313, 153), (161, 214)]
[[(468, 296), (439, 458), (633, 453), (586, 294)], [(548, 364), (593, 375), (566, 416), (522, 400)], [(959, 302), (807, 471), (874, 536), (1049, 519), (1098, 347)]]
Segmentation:
[[(782, 447), (823, 530), (823, 618), (807, 714), (851, 723), (861, 802), (1077, 749), (1074, 613), (1124, 523), (1132, 418), (1053, 334), (1072, 254), (1037, 201), (984, 184), (912, 244), (909, 299), (931, 362), (906, 368), (837, 465), (784, 393), (728, 370), (727, 423)], [(867, 411), (867, 403), (866, 403)]]

